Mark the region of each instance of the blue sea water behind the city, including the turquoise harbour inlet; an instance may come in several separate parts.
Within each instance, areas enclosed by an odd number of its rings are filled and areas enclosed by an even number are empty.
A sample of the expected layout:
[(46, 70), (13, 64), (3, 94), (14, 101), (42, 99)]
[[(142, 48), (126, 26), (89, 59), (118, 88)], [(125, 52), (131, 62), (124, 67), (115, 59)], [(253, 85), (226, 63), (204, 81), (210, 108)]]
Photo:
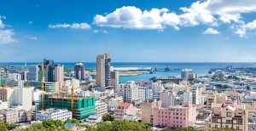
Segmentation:
[[(61, 65), (64, 65), (65, 68), (73, 68), (75, 63), (68, 63), (68, 62), (55, 62)], [(95, 62), (82, 62), (85, 65), (86, 69), (95, 69), (96, 63)], [(37, 65), (36, 62), (29, 62), (26, 63), (26, 66), (30, 65)], [(6, 62), (0, 63), (1, 65), (13, 65), (17, 67), (25, 66), (25, 63), (20, 62)], [(211, 68), (224, 68), (227, 65), (232, 65), (233, 68), (236, 67), (256, 67), (256, 63), (171, 63), (171, 62), (112, 62), (111, 65), (113, 67), (151, 67), (157, 68), (160, 70), (165, 69), (166, 67), (170, 68), (171, 71), (156, 71), (153, 74), (142, 74), (139, 76), (131, 76), (131, 77), (119, 77), (120, 83), (126, 83), (127, 81), (148, 81), (151, 77), (180, 77), (180, 71), (183, 68), (190, 68), (193, 69), (198, 75), (206, 75)]]

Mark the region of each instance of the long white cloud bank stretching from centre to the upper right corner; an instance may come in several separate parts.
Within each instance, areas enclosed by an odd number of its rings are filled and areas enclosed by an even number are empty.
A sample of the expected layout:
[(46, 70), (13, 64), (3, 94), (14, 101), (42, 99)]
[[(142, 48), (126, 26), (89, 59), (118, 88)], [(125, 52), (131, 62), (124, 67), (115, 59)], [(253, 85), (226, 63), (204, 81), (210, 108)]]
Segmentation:
[[(163, 31), (167, 26), (176, 30), (181, 26), (212, 27), (225, 24), (231, 27), (243, 26), (243, 15), (255, 12), (255, 0), (205, 0), (192, 3), (189, 7), (181, 7), (178, 13), (168, 9), (141, 10), (133, 6), (122, 7), (106, 15), (96, 14), (93, 23), (97, 26), (158, 31)], [(239, 35), (246, 34), (248, 29), (244, 28), (246, 27), (231, 31)]]

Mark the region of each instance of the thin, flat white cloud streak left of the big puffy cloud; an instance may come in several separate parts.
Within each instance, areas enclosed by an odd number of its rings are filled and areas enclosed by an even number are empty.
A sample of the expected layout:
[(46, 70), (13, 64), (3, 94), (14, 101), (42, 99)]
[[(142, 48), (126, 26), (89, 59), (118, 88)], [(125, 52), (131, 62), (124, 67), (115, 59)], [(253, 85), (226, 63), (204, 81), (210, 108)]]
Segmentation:
[(71, 29), (90, 29), (87, 23), (73, 23), (73, 24), (49, 24), (49, 28), (71, 28)]

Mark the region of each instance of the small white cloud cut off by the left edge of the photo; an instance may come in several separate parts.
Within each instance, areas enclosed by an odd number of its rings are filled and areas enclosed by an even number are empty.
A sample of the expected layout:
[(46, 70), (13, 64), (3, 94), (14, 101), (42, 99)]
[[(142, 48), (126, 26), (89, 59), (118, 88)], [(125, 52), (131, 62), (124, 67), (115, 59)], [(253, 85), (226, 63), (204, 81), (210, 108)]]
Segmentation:
[(0, 44), (15, 42), (15, 39), (13, 38), (15, 33), (13, 30), (5, 29), (1, 19), (5, 19), (5, 17), (0, 16)]

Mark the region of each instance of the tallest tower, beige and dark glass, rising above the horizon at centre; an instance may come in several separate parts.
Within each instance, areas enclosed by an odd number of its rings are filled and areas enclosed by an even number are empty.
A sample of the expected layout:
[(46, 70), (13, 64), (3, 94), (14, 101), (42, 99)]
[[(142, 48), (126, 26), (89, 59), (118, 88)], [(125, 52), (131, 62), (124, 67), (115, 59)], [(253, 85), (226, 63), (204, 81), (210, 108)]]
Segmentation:
[(110, 86), (110, 55), (99, 54), (96, 57), (96, 85), (99, 87)]

